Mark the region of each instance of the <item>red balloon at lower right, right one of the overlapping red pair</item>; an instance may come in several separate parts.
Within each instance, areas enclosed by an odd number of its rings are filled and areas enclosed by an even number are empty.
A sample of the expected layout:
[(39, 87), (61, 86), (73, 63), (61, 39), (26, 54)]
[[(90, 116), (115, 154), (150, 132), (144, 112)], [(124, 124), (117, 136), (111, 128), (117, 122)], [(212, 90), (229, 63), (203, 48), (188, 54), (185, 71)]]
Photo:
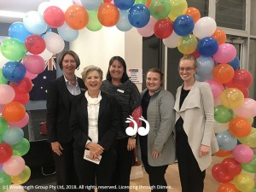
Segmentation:
[(224, 159), (221, 163), (230, 177), (236, 177), (241, 172), (241, 164), (234, 158)]

